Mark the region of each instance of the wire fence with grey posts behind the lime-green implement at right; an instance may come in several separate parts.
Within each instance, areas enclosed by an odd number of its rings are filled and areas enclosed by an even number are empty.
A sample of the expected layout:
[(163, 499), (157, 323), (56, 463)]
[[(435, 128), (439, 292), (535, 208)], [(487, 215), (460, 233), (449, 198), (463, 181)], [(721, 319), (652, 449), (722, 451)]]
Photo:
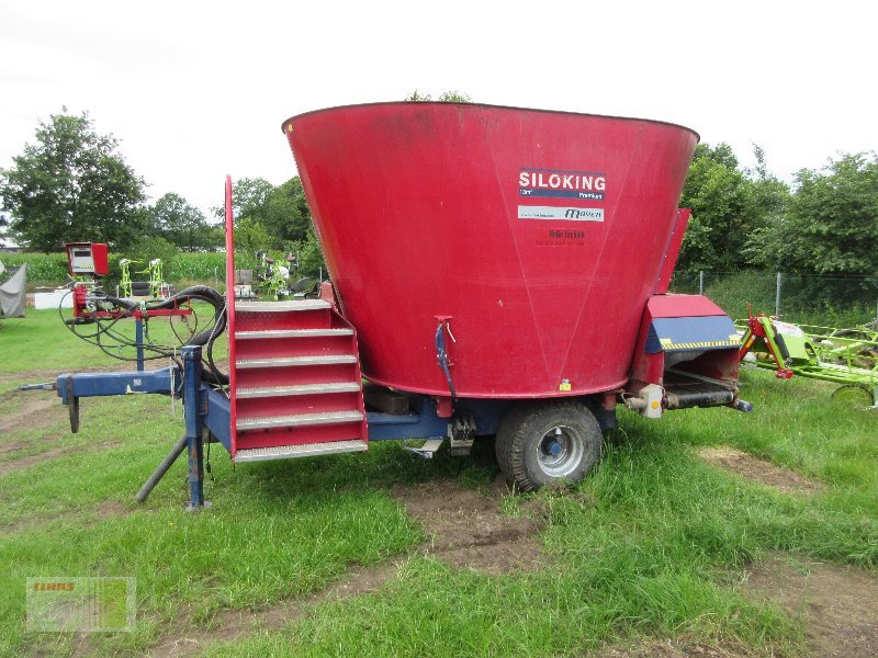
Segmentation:
[(823, 327), (852, 327), (878, 318), (878, 276), (802, 276), (784, 272), (683, 272), (672, 293), (707, 295), (732, 318), (765, 313)]

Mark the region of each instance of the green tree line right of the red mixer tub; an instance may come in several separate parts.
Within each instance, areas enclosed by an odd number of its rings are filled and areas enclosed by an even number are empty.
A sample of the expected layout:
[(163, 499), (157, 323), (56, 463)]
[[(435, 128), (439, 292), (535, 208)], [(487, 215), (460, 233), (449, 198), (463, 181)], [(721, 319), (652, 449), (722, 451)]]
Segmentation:
[(677, 271), (878, 273), (878, 157), (841, 154), (792, 185), (741, 167), (728, 144), (699, 144), (680, 198), (693, 211)]

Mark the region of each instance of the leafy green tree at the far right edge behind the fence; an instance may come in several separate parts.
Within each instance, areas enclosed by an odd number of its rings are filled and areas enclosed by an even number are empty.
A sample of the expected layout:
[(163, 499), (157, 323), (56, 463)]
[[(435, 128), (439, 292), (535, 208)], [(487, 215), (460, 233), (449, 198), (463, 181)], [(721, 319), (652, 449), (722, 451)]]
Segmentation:
[(787, 212), (759, 230), (754, 260), (787, 272), (878, 271), (878, 156), (844, 154), (823, 173), (802, 169)]

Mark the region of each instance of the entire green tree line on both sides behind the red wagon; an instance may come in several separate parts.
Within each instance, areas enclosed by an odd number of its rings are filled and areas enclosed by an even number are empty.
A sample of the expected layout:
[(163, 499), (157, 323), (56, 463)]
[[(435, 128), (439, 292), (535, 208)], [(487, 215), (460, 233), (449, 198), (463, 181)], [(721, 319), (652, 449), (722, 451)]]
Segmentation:
[[(406, 100), (429, 95), (414, 92)], [(448, 92), (439, 100), (469, 97)], [(31, 250), (92, 240), (155, 257), (224, 245), (223, 207), (212, 208), (209, 218), (173, 192), (146, 203), (145, 181), (125, 162), (115, 137), (100, 135), (87, 113), (65, 109), (41, 122), (35, 137), (0, 169), (10, 228)], [(820, 170), (802, 169), (791, 185), (769, 173), (759, 147), (754, 155), (755, 167), (744, 168), (728, 144), (696, 148), (680, 200), (693, 217), (678, 272), (878, 272), (875, 152), (842, 154)], [(245, 178), (234, 191), (236, 248), (293, 251), (304, 271), (316, 273), (322, 254), (299, 177), (281, 185)]]

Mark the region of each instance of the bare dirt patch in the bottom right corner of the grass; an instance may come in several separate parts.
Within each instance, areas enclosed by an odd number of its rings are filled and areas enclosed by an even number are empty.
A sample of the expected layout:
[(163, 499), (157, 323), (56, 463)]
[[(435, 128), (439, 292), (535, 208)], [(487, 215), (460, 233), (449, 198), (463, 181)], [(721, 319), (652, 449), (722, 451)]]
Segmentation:
[(878, 578), (868, 571), (772, 554), (742, 591), (801, 619), (814, 656), (878, 656)]

